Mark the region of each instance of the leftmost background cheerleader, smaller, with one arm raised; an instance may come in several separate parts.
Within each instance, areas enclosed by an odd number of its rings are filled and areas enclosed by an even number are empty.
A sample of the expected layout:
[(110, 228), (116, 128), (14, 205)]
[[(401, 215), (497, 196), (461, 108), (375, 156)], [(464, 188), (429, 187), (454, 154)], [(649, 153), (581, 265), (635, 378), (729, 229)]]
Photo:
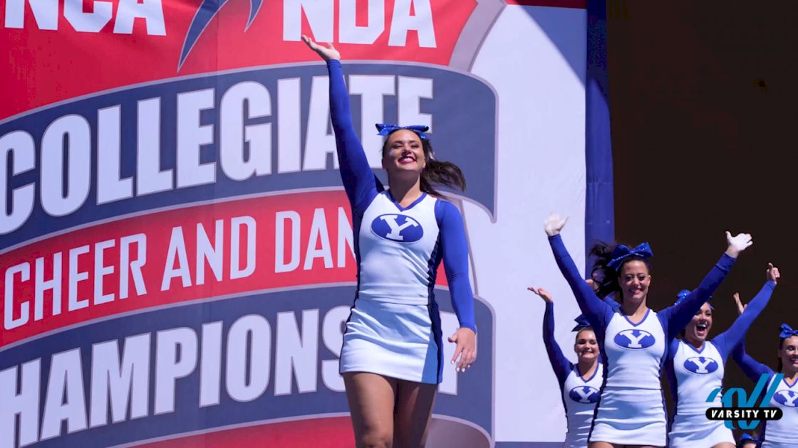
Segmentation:
[(591, 432), (596, 402), (603, 378), (603, 367), (599, 362), (599, 344), (595, 332), (583, 316), (577, 317), (574, 352), (577, 364), (571, 364), (554, 337), (554, 301), (551, 293), (543, 288), (528, 288), (543, 298), (546, 311), (543, 313), (543, 344), (546, 345), (551, 368), (557, 376), (563, 394), (563, 407), (568, 424), (564, 448), (587, 448), (587, 436)]

